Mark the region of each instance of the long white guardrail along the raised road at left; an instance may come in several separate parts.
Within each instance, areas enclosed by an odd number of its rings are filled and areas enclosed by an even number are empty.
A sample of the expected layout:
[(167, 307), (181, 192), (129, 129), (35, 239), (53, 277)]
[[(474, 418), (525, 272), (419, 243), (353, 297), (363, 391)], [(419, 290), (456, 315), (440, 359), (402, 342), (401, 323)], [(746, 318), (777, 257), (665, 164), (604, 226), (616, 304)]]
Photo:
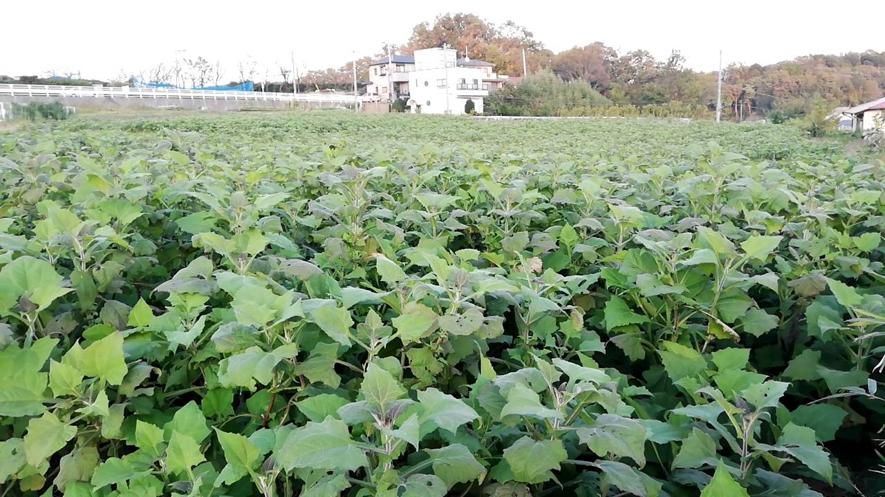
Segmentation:
[(65, 85), (0, 84), (0, 95), (80, 96), (111, 98), (172, 98), (178, 100), (250, 100), (305, 103), (353, 103), (353, 95), (328, 93), (272, 93), (181, 88), (73, 87)]

